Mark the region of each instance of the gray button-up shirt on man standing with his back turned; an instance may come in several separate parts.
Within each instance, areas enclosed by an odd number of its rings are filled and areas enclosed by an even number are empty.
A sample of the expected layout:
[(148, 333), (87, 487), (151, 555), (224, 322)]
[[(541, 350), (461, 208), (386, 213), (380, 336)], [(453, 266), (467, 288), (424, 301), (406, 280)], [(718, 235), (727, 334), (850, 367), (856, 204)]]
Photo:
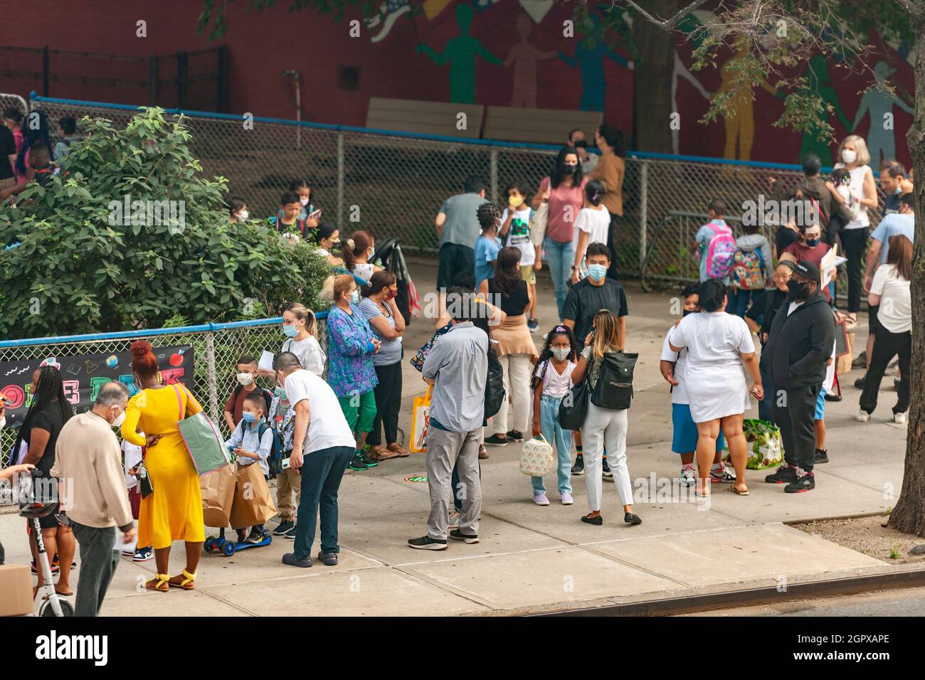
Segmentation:
[(488, 376), (488, 336), (471, 321), (455, 324), (427, 353), (421, 375), (436, 378), (430, 397), (430, 417), (452, 432), (482, 427), (485, 381)]

